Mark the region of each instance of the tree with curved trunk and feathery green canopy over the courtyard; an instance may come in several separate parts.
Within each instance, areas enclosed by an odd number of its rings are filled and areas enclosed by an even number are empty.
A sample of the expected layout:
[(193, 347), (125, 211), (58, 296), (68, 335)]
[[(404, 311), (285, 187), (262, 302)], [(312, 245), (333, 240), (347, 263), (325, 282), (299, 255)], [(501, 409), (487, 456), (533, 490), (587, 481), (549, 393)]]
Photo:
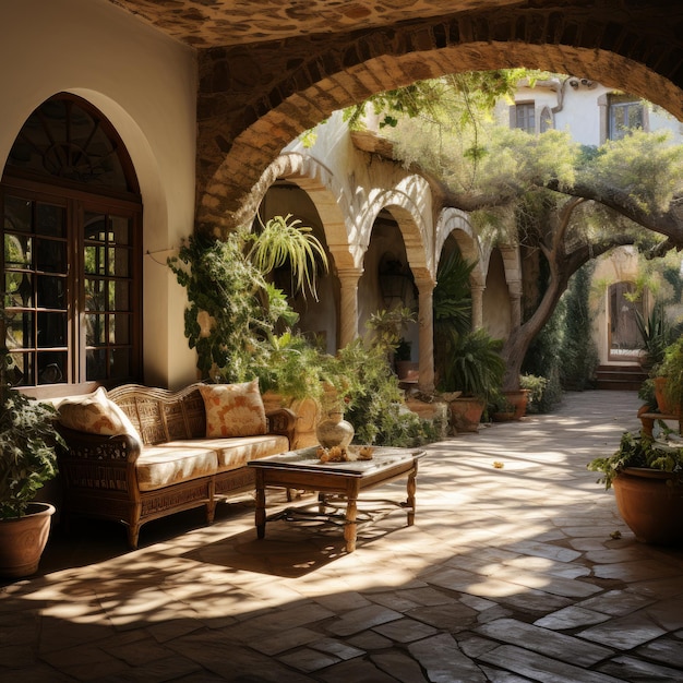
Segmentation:
[(453, 81), (432, 92), (443, 97), (426, 112), (391, 109), (392, 158), (430, 177), (442, 204), (469, 212), (481, 235), (523, 245), (548, 265), (542, 297), (502, 351), (505, 388), (516, 388), (531, 340), (585, 263), (624, 244), (649, 256), (683, 247), (683, 146), (667, 133), (634, 131), (585, 148), (561, 131), (498, 125), (486, 101)]

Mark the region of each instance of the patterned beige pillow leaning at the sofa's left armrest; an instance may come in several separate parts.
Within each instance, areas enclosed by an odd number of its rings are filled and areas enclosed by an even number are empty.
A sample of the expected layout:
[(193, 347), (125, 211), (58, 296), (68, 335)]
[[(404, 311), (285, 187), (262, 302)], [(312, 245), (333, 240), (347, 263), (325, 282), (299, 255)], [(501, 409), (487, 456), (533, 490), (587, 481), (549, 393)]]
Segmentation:
[(141, 442), (129, 417), (112, 400), (104, 387), (81, 398), (68, 398), (58, 407), (59, 421), (69, 429), (103, 435), (130, 434)]

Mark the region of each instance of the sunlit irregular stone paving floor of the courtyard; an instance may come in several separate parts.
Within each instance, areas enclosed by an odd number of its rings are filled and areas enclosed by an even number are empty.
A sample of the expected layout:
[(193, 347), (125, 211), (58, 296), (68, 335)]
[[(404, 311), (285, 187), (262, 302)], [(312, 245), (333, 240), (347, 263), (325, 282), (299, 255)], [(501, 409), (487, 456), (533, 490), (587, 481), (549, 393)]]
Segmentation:
[(0, 681), (683, 681), (683, 549), (635, 541), (586, 469), (638, 406), (571, 393), (430, 445), (416, 525), (396, 510), (351, 554), (285, 520), (257, 541), (251, 496), (151, 523), (135, 552), (117, 525), (58, 527), (39, 575), (0, 584)]

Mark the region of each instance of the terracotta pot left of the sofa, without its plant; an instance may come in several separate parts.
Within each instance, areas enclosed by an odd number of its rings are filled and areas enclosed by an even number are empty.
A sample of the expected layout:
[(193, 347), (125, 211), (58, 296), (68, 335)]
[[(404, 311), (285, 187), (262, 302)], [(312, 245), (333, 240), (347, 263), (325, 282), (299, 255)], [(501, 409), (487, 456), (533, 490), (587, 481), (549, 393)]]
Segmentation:
[(23, 517), (0, 520), (1, 576), (19, 578), (38, 571), (53, 514), (49, 503), (29, 503)]

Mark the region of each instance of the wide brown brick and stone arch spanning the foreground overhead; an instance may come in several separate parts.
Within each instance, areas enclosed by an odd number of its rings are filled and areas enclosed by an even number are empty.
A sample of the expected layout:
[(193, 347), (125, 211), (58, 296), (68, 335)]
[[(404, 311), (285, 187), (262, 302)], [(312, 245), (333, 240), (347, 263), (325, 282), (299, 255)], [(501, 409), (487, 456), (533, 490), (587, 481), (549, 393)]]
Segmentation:
[(658, 25), (652, 35), (647, 12), (647, 3), (627, 15), (607, 3), (501, 8), (324, 40), (207, 50), (200, 56), (199, 226), (235, 225), (280, 149), (332, 111), (445, 73), (524, 64), (580, 74), (683, 119), (681, 26)]

